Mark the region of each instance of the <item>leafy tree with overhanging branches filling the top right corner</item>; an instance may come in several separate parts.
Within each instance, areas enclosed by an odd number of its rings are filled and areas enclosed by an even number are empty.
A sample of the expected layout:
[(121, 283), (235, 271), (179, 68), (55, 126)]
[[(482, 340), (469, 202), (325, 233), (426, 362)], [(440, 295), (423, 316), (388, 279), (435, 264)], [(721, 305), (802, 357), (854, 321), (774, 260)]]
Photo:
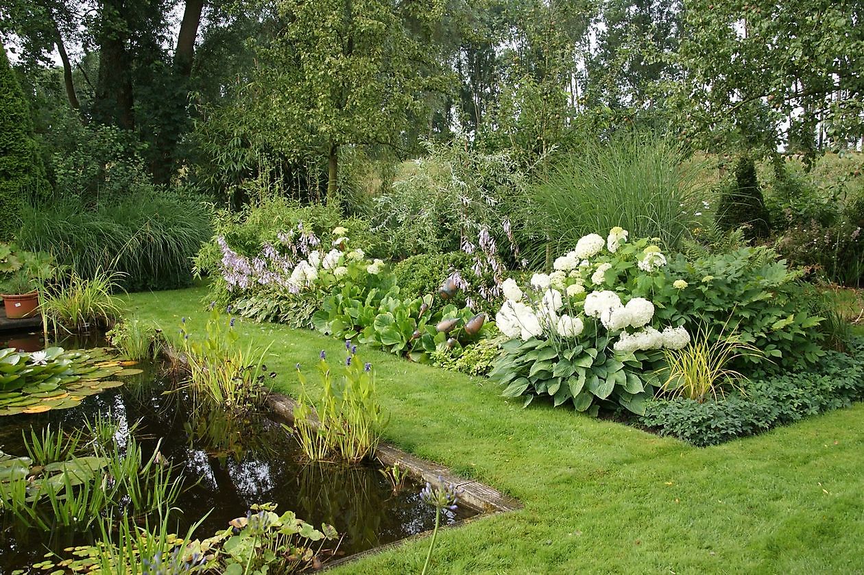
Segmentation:
[(864, 136), (862, 17), (859, 0), (688, 3), (677, 92), (688, 136), (772, 151), (791, 126), (809, 155), (817, 130), (835, 145)]

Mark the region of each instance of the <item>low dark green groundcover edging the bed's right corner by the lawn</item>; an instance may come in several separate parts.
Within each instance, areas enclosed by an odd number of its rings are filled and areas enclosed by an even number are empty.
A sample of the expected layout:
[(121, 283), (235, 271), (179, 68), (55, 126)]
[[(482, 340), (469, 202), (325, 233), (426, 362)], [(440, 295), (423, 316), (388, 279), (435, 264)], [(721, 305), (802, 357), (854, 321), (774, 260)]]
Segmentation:
[(719, 401), (654, 399), (639, 422), (693, 445), (717, 445), (864, 398), (864, 341), (850, 354), (829, 351), (809, 371), (747, 382), (744, 394)]

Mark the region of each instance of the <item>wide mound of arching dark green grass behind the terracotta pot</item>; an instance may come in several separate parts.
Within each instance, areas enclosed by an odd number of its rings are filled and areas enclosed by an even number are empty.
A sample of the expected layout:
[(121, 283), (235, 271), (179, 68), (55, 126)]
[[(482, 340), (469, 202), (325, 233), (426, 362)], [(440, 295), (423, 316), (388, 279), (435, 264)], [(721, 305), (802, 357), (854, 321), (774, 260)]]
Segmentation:
[(48, 251), (84, 278), (98, 269), (124, 274), (124, 288), (168, 289), (192, 280), (192, 257), (211, 237), (211, 209), (200, 198), (156, 192), (28, 205), (19, 242)]

